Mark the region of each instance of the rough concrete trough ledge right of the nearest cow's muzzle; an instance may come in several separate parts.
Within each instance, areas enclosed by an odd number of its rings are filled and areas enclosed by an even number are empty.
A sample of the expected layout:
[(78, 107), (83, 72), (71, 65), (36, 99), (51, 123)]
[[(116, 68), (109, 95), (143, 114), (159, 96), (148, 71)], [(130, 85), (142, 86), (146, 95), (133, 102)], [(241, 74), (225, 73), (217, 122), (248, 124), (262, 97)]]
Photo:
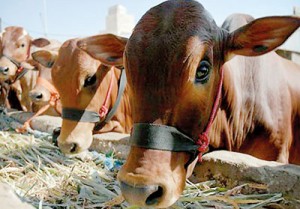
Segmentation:
[(300, 166), (264, 161), (250, 155), (215, 151), (203, 156), (191, 180), (207, 181), (211, 178), (236, 186), (254, 182), (268, 186), (269, 192), (282, 192), (300, 199)]

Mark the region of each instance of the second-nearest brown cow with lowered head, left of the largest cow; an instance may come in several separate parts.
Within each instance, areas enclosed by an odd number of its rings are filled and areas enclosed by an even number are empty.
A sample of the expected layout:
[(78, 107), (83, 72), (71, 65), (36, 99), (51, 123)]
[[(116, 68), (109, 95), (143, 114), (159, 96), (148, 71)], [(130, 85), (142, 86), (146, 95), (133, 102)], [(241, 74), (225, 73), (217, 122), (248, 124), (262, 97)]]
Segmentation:
[[(68, 40), (61, 46), (52, 66), (52, 79), (63, 107), (58, 137), (58, 146), (63, 153), (74, 155), (86, 151), (92, 143), (95, 122), (99, 118), (104, 120), (103, 108), (111, 110), (118, 95), (122, 95), (118, 93), (118, 82), (124, 73), (117, 67), (123, 66), (126, 42), (125, 38), (105, 34)], [(53, 62), (49, 53), (40, 55), (36, 59), (44, 65)], [(101, 126), (97, 126), (100, 128), (97, 133), (130, 132), (132, 122), (127, 89), (111, 120)]]

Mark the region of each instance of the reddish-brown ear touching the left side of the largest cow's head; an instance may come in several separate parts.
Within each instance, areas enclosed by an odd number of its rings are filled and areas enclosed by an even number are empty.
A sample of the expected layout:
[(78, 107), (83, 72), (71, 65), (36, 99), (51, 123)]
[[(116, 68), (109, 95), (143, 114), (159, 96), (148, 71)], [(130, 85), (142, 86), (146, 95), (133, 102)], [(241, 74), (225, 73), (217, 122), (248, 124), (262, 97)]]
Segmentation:
[(108, 66), (122, 66), (127, 38), (113, 34), (97, 35), (78, 42), (78, 47)]

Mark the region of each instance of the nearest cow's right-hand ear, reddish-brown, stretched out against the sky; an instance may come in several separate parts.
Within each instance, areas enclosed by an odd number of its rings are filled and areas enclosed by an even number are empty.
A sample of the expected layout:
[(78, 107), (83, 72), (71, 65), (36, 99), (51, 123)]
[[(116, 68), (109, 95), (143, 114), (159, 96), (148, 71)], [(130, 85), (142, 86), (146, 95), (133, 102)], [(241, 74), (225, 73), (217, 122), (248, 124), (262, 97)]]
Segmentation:
[(227, 39), (229, 55), (258, 56), (274, 50), (300, 26), (292, 16), (264, 17), (233, 31)]

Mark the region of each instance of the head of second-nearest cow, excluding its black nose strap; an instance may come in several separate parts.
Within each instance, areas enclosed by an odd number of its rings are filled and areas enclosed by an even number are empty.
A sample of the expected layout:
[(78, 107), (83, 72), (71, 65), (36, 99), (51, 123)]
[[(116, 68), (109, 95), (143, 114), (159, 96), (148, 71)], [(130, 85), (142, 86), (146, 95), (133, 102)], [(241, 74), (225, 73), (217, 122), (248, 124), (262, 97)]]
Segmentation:
[[(40, 57), (48, 66), (55, 59), (52, 79), (63, 109), (99, 112), (115, 73), (114, 66), (123, 65), (126, 41), (111, 34), (73, 39), (61, 46), (56, 59), (49, 53)], [(58, 137), (61, 151), (67, 155), (86, 151), (92, 143), (94, 126), (95, 122), (63, 117)]]

